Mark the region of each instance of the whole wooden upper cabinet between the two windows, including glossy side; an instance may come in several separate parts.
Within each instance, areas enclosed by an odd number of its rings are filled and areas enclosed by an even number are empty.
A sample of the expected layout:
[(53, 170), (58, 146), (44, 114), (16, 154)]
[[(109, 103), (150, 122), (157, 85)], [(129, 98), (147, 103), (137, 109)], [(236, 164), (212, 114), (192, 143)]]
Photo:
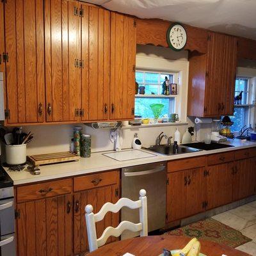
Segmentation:
[(237, 39), (209, 33), (207, 54), (189, 54), (189, 116), (232, 115)]

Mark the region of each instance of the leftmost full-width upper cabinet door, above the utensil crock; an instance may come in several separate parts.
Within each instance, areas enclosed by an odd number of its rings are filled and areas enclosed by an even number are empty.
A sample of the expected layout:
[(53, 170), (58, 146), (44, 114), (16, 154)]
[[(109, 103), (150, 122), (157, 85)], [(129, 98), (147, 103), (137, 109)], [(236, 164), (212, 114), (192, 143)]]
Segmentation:
[(44, 1), (6, 1), (4, 15), (6, 122), (44, 122)]

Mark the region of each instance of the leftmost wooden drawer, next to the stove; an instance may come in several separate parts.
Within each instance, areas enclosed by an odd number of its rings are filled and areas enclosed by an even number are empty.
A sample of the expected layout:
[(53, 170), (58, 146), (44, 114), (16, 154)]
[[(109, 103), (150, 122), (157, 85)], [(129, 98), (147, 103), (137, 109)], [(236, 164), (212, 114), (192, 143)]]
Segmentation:
[(17, 188), (17, 202), (39, 200), (72, 192), (72, 179), (54, 180)]

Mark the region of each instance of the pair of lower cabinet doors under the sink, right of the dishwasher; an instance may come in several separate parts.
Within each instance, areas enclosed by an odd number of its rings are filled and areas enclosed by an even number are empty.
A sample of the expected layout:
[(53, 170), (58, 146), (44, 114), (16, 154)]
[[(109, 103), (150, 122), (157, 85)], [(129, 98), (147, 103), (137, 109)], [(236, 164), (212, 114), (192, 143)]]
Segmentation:
[(204, 211), (205, 168), (168, 173), (166, 222)]

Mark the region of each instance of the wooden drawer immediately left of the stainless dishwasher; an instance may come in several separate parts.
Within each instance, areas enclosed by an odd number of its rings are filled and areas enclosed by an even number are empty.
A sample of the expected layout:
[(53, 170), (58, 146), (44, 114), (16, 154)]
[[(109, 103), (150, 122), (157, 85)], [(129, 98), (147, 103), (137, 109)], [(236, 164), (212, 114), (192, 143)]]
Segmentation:
[(74, 191), (99, 188), (118, 183), (119, 172), (95, 173), (74, 178)]

